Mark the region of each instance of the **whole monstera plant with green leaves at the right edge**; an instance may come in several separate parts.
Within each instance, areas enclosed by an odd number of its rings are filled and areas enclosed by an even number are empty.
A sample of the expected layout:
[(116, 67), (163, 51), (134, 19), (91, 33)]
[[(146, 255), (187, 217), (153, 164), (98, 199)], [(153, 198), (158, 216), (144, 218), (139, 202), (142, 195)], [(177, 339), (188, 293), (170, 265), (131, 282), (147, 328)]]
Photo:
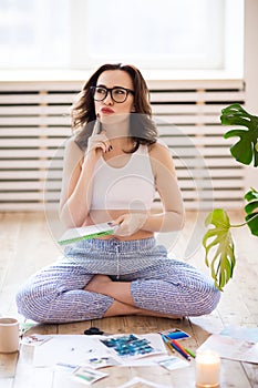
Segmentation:
[[(258, 116), (246, 112), (241, 105), (233, 104), (221, 111), (223, 125), (240, 125), (225, 133), (224, 137), (239, 137), (230, 147), (233, 157), (242, 164), (258, 166)], [(236, 256), (231, 229), (247, 225), (250, 233), (258, 237), (258, 191), (251, 187), (245, 194), (245, 222), (231, 225), (227, 212), (215, 208), (205, 219), (208, 228), (203, 238), (205, 263), (210, 268), (215, 286), (223, 290), (233, 277)]]

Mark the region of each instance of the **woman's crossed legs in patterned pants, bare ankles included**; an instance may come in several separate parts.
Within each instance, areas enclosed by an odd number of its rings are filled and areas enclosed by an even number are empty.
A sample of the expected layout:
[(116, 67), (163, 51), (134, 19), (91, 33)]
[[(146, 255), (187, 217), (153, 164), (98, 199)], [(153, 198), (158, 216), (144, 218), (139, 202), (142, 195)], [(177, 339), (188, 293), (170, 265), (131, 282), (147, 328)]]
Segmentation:
[(17, 295), (19, 313), (41, 323), (118, 315), (166, 318), (209, 314), (219, 302), (210, 279), (187, 263), (168, 259), (127, 275), (91, 275), (68, 261), (42, 269)]

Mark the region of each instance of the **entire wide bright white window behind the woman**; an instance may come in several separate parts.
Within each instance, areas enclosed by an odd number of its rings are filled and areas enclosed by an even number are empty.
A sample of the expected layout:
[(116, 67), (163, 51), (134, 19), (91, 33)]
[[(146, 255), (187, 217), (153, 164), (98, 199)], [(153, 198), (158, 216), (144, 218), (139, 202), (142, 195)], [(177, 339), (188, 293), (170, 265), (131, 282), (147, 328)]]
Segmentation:
[(0, 68), (221, 70), (242, 31), (244, 0), (1, 0)]

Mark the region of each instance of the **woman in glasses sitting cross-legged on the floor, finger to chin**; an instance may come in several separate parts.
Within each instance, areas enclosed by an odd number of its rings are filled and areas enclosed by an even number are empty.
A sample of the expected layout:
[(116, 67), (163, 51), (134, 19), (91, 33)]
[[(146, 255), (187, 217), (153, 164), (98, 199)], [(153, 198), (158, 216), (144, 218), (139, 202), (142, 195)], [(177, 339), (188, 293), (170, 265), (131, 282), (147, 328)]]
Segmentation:
[[(68, 228), (111, 222), (115, 233), (68, 245), (63, 257), (18, 293), (19, 312), (41, 323), (210, 313), (220, 296), (211, 280), (168, 258), (154, 237), (183, 227), (184, 206), (141, 72), (133, 65), (102, 65), (85, 83), (72, 118), (61, 221)], [(156, 191), (161, 213), (152, 212)]]

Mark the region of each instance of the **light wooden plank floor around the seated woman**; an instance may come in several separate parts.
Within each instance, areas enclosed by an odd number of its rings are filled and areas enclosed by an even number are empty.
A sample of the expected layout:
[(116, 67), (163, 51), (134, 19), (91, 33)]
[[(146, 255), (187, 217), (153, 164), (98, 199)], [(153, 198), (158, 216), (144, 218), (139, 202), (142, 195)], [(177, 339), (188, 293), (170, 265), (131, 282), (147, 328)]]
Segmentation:
[[(180, 235), (158, 235), (161, 243), (183, 259), (207, 270), (204, 265), (204, 251), (200, 246), (203, 219), (205, 214), (187, 213), (184, 232)], [(242, 221), (241, 214), (230, 213), (231, 222)], [(56, 225), (55, 225), (56, 226)], [(14, 295), (19, 285), (37, 269), (50, 264), (60, 248), (54, 243), (51, 231), (42, 213), (2, 213), (0, 214), (0, 315), (18, 315)], [(54, 233), (54, 232), (53, 232)], [(210, 333), (219, 333), (225, 326), (258, 326), (258, 239), (250, 235), (247, 227), (236, 229), (234, 237), (237, 246), (237, 266), (234, 279), (226, 287), (218, 308), (209, 316), (171, 320), (151, 317), (115, 317), (65, 325), (37, 325), (28, 334), (83, 334), (97, 326), (106, 333), (157, 333), (179, 327), (192, 335), (187, 347), (195, 350)], [(79, 387), (59, 380), (58, 375), (47, 368), (33, 368), (32, 348), (21, 347), (19, 354), (0, 355), (1, 388), (69, 388)], [(135, 376), (141, 376), (165, 387), (195, 387), (194, 361), (190, 367), (168, 372), (161, 367), (109, 368), (110, 377), (94, 384), (94, 387), (120, 387)], [(81, 386), (80, 386), (81, 387)], [(135, 385), (135, 388), (144, 387)], [(223, 359), (220, 387), (258, 387), (258, 366)]]

